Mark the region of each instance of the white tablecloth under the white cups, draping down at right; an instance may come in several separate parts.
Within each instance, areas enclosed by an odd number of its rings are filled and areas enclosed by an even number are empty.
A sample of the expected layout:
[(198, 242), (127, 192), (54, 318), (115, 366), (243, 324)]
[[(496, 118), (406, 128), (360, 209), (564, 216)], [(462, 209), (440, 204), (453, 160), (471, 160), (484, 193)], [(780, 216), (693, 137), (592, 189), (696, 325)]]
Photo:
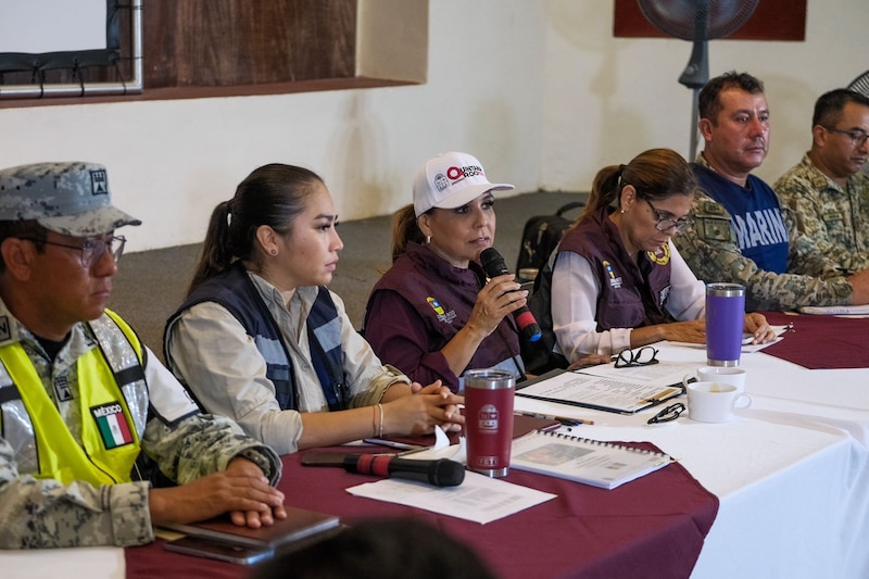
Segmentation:
[[(663, 362), (705, 364), (703, 349), (656, 344)], [(743, 354), (752, 406), (728, 424), (634, 416), (516, 398), (517, 410), (594, 425), (571, 435), (650, 441), (720, 499), (692, 577), (869, 577), (869, 369), (808, 370)]]

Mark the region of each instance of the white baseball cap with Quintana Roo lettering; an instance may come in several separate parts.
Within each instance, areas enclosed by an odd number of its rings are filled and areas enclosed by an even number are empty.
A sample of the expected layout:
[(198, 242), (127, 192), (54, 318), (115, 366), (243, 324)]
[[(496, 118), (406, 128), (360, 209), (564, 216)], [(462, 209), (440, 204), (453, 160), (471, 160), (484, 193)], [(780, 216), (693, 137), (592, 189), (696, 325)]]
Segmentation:
[(449, 152), (429, 159), (414, 179), (414, 213), (419, 217), (431, 207), (455, 209), (486, 191), (515, 189), (506, 182), (489, 182), (476, 156)]

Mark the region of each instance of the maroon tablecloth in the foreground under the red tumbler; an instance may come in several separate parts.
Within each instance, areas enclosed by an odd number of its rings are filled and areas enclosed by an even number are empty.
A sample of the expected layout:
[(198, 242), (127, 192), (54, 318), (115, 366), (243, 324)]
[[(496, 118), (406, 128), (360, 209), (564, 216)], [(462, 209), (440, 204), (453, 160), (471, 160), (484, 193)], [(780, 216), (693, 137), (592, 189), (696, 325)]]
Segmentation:
[[(349, 525), (373, 516), (424, 519), (469, 544), (503, 579), (689, 577), (718, 512), (718, 499), (678, 463), (614, 490), (513, 470), (507, 481), (557, 498), (479, 525), (353, 496), (347, 488), (376, 479), (301, 466), (300, 454), (284, 457), (280, 489), (288, 504), (339, 515)], [(241, 566), (166, 552), (160, 540), (127, 549), (126, 565), (129, 579), (248, 574)]]

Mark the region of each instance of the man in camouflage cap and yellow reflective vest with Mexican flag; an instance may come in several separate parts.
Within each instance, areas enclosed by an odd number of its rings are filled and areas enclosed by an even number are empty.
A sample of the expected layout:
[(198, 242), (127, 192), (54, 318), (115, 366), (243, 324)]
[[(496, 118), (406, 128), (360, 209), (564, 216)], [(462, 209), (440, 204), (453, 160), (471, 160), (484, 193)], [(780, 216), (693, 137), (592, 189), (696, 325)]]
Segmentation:
[[(0, 547), (135, 545), (154, 525), (286, 517), (275, 452), (202, 414), (105, 310), (139, 221), (105, 168), (0, 171)], [(154, 487), (158, 467), (178, 486)]]

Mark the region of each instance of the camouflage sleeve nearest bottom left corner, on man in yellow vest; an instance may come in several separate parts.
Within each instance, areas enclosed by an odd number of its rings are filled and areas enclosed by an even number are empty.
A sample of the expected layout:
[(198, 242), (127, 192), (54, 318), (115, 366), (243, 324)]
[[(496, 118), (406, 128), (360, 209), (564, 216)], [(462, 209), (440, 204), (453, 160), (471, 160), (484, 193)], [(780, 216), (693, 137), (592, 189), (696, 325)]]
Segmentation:
[(20, 476), (0, 438), (0, 549), (128, 546), (153, 541), (148, 482), (92, 487)]

